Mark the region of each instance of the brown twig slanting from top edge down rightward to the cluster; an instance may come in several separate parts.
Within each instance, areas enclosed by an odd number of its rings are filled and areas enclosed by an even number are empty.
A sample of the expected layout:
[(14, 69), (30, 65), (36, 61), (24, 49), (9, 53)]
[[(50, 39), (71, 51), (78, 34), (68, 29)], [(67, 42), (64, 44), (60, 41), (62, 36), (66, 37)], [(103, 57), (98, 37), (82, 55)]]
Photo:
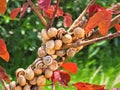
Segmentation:
[(30, 7), (34, 10), (34, 12), (36, 13), (36, 15), (38, 16), (38, 18), (40, 19), (40, 21), (42, 21), (42, 23), (45, 25), (45, 27), (47, 27), (47, 21), (45, 20), (45, 18), (40, 14), (39, 10), (36, 8), (36, 6), (34, 5), (34, 3), (31, 0), (27, 0), (28, 4), (30, 5)]

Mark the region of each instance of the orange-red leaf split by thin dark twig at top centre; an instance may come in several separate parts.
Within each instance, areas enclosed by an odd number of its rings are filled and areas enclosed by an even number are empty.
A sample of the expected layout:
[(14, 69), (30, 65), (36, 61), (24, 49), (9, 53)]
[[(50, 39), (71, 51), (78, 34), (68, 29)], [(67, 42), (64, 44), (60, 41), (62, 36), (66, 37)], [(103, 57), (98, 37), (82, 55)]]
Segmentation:
[[(47, 9), (44, 9), (43, 11), (48, 18), (52, 18), (55, 8), (56, 8), (55, 5), (51, 5)], [(63, 10), (60, 7), (58, 7), (55, 17), (63, 16), (63, 14), (64, 14)]]

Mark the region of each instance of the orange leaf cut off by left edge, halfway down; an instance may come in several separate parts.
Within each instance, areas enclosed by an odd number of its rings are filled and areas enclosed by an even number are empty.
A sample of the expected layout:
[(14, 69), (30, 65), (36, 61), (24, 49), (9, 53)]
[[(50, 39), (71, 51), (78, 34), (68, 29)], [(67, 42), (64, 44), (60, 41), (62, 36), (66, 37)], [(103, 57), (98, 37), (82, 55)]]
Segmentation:
[(10, 58), (3, 39), (0, 39), (0, 57), (3, 58), (6, 62), (8, 62)]

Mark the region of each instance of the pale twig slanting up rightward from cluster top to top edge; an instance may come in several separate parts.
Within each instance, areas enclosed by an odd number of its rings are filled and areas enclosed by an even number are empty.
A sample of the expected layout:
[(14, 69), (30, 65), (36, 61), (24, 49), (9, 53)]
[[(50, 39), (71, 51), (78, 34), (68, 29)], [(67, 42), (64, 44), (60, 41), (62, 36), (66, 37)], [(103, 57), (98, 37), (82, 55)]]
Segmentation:
[(68, 29), (68, 32), (71, 32), (75, 27), (79, 26), (79, 22), (82, 19), (82, 17), (86, 14), (88, 8), (95, 3), (96, 0), (91, 0), (91, 2), (87, 5), (87, 7), (84, 9), (84, 11), (79, 15), (79, 17), (74, 20), (73, 24), (71, 27)]

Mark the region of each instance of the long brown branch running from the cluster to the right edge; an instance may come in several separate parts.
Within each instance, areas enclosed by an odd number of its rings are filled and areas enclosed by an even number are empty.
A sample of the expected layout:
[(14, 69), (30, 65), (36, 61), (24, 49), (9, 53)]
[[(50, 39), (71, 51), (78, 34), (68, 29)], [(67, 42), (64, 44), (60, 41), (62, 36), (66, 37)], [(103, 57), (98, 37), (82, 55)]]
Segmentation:
[(89, 44), (92, 44), (92, 43), (100, 42), (100, 41), (103, 41), (103, 40), (106, 40), (106, 39), (112, 39), (112, 38), (115, 38), (115, 37), (118, 37), (118, 36), (120, 36), (120, 32), (116, 32), (116, 33), (113, 33), (113, 34), (108, 34), (106, 36), (91, 39), (91, 40), (88, 40), (88, 41), (81, 41), (81, 42), (78, 41), (78, 42), (75, 42), (75, 43), (64, 45), (62, 49), (66, 49), (66, 48), (70, 48), (70, 47), (86, 46), (86, 45), (89, 45)]

